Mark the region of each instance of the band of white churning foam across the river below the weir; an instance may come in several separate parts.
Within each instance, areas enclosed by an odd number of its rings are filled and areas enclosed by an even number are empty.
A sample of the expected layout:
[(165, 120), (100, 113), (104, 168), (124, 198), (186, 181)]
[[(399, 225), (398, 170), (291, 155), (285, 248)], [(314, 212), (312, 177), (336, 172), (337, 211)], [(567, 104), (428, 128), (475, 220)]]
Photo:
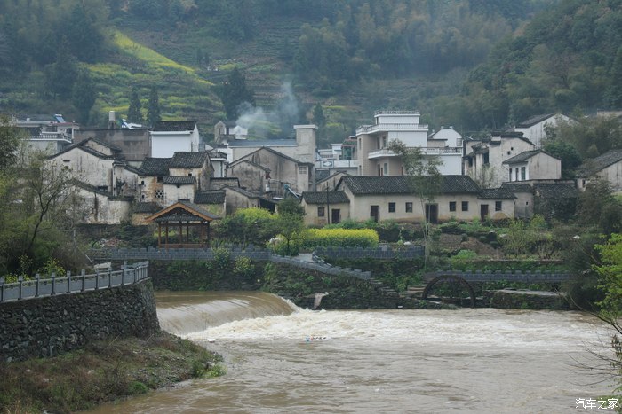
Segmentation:
[[(564, 348), (594, 340), (585, 329), (586, 316), (574, 312), (530, 312), (499, 309), (311, 311), (264, 316), (210, 327), (188, 335), (190, 340), (305, 340), (309, 337), (445, 343), (477, 347)], [(482, 319), (485, 324), (482, 324)], [(576, 331), (569, 324), (581, 323)], [(604, 328), (600, 327), (604, 333)]]

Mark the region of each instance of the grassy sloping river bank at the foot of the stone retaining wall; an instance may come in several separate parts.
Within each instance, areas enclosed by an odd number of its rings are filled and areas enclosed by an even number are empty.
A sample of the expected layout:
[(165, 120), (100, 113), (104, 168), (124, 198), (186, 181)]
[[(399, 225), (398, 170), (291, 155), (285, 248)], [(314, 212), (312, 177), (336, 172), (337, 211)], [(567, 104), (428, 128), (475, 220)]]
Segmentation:
[(167, 332), (98, 341), (52, 358), (0, 363), (0, 412), (87, 410), (187, 379), (216, 377), (220, 355)]

